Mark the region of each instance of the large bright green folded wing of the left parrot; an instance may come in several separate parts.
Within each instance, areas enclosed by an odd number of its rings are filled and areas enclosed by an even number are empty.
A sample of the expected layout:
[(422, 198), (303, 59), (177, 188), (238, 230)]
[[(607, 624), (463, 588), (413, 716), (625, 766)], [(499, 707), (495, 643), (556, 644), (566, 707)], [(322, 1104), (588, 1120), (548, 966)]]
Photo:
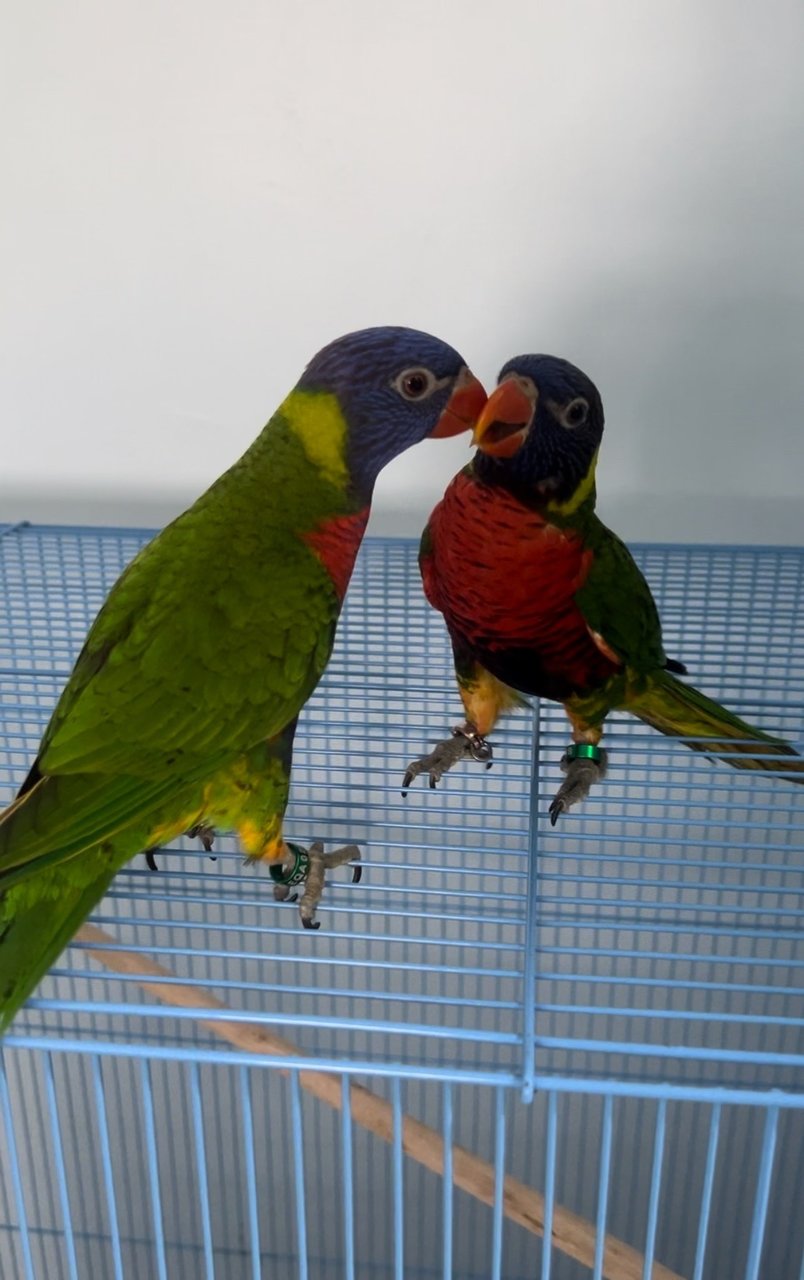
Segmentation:
[(192, 768), (273, 736), (310, 696), (338, 618), (332, 582), (292, 532), (269, 527), (243, 547), (210, 515), (191, 508), (118, 580), (45, 732), (40, 773)]

